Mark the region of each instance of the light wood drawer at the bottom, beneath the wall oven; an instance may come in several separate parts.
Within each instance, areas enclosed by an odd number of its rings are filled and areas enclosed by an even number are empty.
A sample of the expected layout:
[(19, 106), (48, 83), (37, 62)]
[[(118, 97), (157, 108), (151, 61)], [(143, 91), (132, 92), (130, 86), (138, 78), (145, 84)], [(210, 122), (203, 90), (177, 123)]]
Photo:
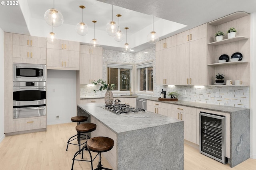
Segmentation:
[(13, 121), (13, 131), (27, 131), (33, 129), (46, 128), (46, 116), (40, 118), (23, 118), (20, 120)]

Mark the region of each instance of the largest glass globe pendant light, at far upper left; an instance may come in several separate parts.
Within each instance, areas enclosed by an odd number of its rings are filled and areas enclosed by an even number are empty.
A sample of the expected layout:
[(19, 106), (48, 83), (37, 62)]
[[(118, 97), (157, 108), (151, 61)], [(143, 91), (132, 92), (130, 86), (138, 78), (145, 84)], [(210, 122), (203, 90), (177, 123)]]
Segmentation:
[(44, 13), (44, 20), (52, 27), (58, 27), (63, 23), (63, 16), (60, 11), (54, 8), (54, 0), (53, 0), (53, 8), (47, 10)]

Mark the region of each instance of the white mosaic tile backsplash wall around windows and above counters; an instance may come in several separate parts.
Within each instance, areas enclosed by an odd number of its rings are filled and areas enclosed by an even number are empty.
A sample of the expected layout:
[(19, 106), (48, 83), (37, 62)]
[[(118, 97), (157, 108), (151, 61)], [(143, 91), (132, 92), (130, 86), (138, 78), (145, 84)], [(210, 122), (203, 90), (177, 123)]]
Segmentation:
[[(144, 53), (148, 52), (148, 53)], [(106, 79), (106, 62), (116, 63), (141, 63), (144, 61), (154, 60), (154, 67), (156, 65), (156, 51), (155, 47), (145, 49), (138, 53), (122, 53), (122, 51), (105, 50), (103, 52), (103, 79)], [(154, 77), (156, 73), (154, 72)], [(81, 85), (81, 97), (88, 96), (104, 96), (105, 91), (94, 93), (93, 90), (99, 89), (99, 85)], [(207, 104), (225, 105), (250, 108), (250, 87), (244, 86), (167, 86), (156, 85), (154, 80), (153, 94), (140, 94), (144, 96), (160, 97), (160, 92), (166, 90), (167, 92), (178, 91), (180, 93), (179, 100), (190, 102), (200, 102)], [(122, 93), (123, 94), (123, 93)], [(130, 93), (127, 93), (130, 94)], [(115, 94), (119, 95), (119, 94)], [(124, 95), (124, 94), (123, 94)], [(168, 97), (168, 96), (167, 96)]]

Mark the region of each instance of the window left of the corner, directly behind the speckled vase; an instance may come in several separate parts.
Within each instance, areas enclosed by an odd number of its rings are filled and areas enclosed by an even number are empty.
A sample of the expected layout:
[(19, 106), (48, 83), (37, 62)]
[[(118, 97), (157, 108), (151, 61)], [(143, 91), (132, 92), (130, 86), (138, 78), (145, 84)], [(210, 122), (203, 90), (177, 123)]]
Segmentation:
[(108, 83), (115, 84), (114, 90), (129, 91), (132, 65), (108, 63)]

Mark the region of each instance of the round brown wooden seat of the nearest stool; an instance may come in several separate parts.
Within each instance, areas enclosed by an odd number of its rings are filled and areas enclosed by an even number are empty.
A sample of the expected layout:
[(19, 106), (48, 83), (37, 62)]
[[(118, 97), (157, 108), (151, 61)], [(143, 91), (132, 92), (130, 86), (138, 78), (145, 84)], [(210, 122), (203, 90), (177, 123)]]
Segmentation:
[(87, 147), (93, 152), (107, 152), (114, 147), (114, 141), (109, 137), (93, 137), (87, 141)]

